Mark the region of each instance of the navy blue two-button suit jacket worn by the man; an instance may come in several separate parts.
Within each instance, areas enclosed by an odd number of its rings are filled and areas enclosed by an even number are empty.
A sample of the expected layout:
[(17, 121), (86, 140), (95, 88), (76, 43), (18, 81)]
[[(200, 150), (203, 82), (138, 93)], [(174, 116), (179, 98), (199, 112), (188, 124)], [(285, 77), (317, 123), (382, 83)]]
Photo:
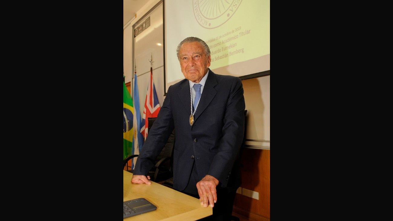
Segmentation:
[(237, 189), (241, 183), (238, 156), (244, 131), (244, 108), (240, 78), (209, 70), (194, 123), (190, 126), (188, 80), (172, 85), (143, 144), (134, 175), (147, 175), (174, 128), (174, 189), (184, 190), (187, 186), (194, 160), (199, 179), (211, 175), (222, 187)]

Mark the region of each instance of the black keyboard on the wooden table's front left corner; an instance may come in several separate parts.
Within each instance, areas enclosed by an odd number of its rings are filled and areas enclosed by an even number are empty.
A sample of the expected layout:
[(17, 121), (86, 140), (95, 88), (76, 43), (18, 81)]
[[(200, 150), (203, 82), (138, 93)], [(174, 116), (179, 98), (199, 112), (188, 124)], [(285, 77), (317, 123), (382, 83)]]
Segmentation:
[(153, 210), (156, 210), (157, 206), (154, 206), (149, 201), (144, 198), (132, 199), (129, 201), (123, 202), (123, 219), (139, 215), (143, 213), (147, 213)]

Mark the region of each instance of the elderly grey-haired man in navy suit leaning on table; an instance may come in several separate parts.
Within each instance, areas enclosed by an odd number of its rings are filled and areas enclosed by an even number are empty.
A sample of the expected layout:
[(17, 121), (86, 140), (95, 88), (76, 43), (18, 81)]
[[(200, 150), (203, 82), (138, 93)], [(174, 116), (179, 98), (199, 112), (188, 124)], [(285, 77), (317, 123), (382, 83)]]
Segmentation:
[(230, 220), (241, 184), (242, 82), (209, 69), (210, 50), (201, 39), (187, 37), (176, 52), (185, 79), (169, 87), (131, 182), (151, 184), (147, 172), (175, 129), (173, 188), (213, 207), (208, 219)]

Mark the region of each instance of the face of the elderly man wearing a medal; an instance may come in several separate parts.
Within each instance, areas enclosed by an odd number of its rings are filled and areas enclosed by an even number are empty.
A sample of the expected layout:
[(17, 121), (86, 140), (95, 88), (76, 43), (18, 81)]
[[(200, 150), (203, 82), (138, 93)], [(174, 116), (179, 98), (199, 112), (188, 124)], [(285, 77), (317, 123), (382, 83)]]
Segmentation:
[(198, 42), (184, 43), (179, 50), (179, 61), (184, 77), (195, 83), (199, 83), (210, 66), (210, 56), (206, 57), (205, 49)]

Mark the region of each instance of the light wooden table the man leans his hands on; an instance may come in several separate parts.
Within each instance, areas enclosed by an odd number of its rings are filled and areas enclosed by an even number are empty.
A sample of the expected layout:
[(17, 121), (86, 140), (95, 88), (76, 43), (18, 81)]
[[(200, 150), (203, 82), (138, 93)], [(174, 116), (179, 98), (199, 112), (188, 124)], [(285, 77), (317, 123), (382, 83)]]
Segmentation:
[(152, 182), (152, 184), (132, 184), (132, 173), (123, 170), (123, 201), (145, 198), (157, 209), (123, 219), (125, 221), (154, 220), (197, 220), (213, 214), (213, 208), (203, 207), (199, 199)]

